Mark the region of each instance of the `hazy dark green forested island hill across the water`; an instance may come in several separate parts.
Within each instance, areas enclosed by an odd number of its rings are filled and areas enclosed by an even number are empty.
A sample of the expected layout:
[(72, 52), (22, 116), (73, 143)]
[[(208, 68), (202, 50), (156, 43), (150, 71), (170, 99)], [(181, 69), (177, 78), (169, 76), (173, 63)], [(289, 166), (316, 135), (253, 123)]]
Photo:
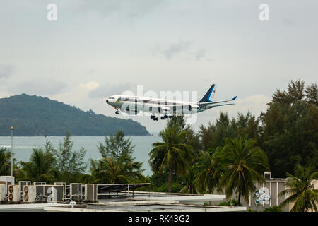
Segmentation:
[(0, 136), (109, 136), (123, 129), (127, 136), (149, 136), (145, 126), (131, 119), (117, 119), (93, 110), (66, 105), (47, 97), (14, 95), (0, 99)]

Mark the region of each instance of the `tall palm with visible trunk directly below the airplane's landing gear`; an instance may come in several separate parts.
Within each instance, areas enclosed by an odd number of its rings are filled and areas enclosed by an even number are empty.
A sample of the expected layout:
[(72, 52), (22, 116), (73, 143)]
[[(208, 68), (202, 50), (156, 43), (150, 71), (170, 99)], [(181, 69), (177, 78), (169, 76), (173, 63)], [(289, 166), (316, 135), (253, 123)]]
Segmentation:
[(153, 143), (148, 163), (153, 172), (163, 172), (164, 167), (169, 170), (168, 192), (171, 192), (172, 172), (184, 174), (194, 153), (192, 148), (185, 144), (187, 131), (181, 130), (177, 124), (166, 126), (163, 131), (160, 131), (159, 136), (163, 142)]

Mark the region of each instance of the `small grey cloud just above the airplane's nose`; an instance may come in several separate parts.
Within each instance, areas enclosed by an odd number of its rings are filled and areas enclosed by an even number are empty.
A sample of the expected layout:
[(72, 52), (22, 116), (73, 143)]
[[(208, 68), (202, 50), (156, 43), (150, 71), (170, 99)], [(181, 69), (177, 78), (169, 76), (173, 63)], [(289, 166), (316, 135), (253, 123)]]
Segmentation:
[(88, 93), (89, 97), (107, 97), (124, 93), (124, 91), (131, 90), (134, 84), (132, 83), (118, 83), (118, 84), (104, 84), (93, 89)]

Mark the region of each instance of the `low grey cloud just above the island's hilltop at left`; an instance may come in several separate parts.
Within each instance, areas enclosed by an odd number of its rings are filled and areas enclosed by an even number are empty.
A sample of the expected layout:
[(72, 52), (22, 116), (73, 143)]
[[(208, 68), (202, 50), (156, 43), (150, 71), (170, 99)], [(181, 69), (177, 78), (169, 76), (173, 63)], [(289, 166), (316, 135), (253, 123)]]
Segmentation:
[(66, 84), (51, 79), (33, 79), (12, 85), (8, 91), (11, 93), (26, 93), (29, 95), (56, 95), (65, 90)]

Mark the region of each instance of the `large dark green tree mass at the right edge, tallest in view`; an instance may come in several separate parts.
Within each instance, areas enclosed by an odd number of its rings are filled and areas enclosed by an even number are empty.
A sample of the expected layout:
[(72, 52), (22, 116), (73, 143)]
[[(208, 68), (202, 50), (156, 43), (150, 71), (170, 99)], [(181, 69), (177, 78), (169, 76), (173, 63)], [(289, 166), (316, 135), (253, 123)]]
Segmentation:
[(276, 177), (285, 177), (297, 164), (318, 169), (317, 99), (317, 84), (305, 88), (304, 81), (290, 81), (288, 90), (277, 90), (261, 114), (261, 148)]

